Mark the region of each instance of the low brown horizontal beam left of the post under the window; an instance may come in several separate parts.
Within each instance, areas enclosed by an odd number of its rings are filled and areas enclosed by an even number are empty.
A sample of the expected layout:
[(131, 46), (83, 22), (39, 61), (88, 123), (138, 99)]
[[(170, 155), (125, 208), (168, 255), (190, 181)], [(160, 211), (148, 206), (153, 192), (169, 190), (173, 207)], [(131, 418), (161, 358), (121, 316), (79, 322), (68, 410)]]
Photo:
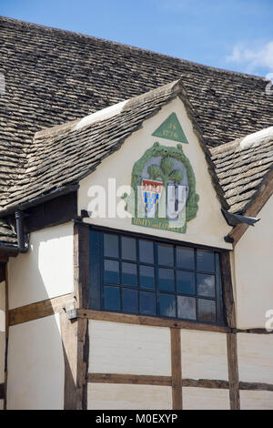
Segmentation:
[(88, 382), (171, 386), (172, 378), (170, 376), (147, 376), (144, 374), (88, 373)]

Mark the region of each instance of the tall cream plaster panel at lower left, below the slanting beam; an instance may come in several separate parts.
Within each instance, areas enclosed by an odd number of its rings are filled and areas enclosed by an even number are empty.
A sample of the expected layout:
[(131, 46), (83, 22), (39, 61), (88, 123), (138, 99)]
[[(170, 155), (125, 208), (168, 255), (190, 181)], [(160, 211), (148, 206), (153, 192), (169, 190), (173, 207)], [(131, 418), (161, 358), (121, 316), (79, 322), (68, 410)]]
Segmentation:
[(7, 408), (64, 408), (64, 357), (59, 315), (9, 329)]

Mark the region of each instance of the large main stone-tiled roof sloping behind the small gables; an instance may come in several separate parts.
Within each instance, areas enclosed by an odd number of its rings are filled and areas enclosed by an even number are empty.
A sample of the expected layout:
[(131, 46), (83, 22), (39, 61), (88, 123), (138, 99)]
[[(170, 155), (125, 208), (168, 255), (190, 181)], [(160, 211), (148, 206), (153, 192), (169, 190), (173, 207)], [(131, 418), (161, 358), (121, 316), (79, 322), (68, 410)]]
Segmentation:
[[(5, 93), (0, 91), (0, 209), (18, 200), (19, 188), (25, 188), (26, 198), (30, 165), (40, 171), (50, 168), (37, 160), (42, 148), (33, 144), (36, 131), (178, 78), (207, 147), (272, 125), (273, 97), (266, 95), (264, 78), (5, 17), (0, 17), (0, 34), (0, 73), (5, 76)], [(72, 177), (73, 162), (66, 168)], [(64, 180), (56, 179), (53, 186)], [(49, 170), (41, 190), (46, 183), (49, 188)]]

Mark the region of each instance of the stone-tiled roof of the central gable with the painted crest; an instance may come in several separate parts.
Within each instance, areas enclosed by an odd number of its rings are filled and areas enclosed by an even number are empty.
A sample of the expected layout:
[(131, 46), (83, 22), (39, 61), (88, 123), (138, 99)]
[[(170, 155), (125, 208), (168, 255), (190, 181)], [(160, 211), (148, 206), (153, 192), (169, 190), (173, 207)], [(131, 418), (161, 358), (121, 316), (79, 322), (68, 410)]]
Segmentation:
[[(114, 113), (110, 112), (105, 119), (93, 114), (37, 132), (27, 154), (24, 178), (17, 179), (10, 187), (4, 201), (5, 209), (13, 209), (29, 199), (77, 183), (120, 148), (148, 117), (177, 96), (186, 97), (180, 81), (117, 104)], [(187, 109), (190, 112), (189, 106)], [(102, 111), (101, 117), (105, 116)], [(82, 123), (87, 125), (82, 126)], [(205, 144), (203, 149), (208, 154)]]

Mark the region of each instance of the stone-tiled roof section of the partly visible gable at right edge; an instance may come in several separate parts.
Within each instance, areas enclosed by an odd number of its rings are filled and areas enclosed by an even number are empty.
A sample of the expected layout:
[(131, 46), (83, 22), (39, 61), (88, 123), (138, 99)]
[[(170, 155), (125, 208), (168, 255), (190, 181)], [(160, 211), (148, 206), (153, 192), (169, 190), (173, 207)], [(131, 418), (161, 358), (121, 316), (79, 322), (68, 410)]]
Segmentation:
[(273, 169), (273, 127), (210, 151), (229, 211), (244, 214)]

